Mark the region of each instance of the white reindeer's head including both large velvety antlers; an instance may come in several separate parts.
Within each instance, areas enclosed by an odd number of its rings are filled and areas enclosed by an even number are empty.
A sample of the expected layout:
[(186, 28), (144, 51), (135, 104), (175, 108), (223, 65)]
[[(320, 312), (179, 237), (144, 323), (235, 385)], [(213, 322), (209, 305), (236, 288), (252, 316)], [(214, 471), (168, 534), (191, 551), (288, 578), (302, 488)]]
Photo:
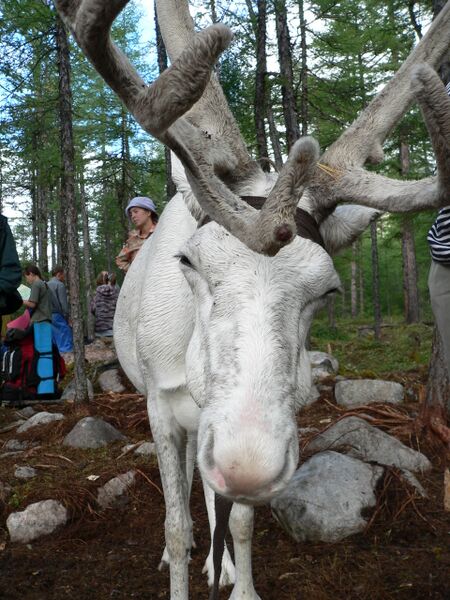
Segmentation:
[[(215, 25), (195, 34), (187, 2), (158, 0), (172, 66), (147, 86), (109, 39), (126, 4), (57, 0), (99, 73), (142, 127), (181, 161), (175, 175), (191, 214), (215, 221), (200, 227), (173, 259), (193, 295), (186, 366), (203, 409), (199, 465), (219, 493), (267, 501), (296, 467), (295, 408), (305, 401), (311, 378), (305, 338), (315, 309), (339, 287), (330, 253), (351, 243), (380, 210), (450, 202), (450, 100), (431, 68), (449, 45), (450, 3), (320, 163), (317, 144), (302, 139), (276, 181), (248, 155), (211, 76), (231, 40), (229, 30)], [(435, 149), (437, 177), (405, 182), (365, 171), (367, 160), (381, 160), (382, 143), (414, 95)], [(249, 195), (267, 197), (262, 210), (242, 200)], [(348, 202), (357, 206), (337, 206)], [(295, 235), (297, 206), (320, 227), (325, 249)]]

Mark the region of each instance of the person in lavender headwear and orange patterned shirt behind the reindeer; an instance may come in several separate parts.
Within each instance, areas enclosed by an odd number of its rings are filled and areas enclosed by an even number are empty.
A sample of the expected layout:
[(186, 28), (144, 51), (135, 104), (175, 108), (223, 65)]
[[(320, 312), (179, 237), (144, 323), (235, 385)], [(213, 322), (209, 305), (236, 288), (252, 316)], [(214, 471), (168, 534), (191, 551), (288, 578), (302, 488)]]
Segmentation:
[(133, 198), (126, 207), (125, 214), (135, 229), (130, 232), (125, 246), (116, 257), (116, 265), (122, 271), (128, 271), (142, 244), (152, 235), (158, 223), (155, 203), (145, 196)]

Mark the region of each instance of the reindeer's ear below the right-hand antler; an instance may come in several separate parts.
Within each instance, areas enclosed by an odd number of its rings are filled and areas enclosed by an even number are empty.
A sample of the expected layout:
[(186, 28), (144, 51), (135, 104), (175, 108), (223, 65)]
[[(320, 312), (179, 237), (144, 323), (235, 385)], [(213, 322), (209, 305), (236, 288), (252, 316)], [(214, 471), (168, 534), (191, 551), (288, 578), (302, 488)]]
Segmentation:
[(366, 227), (383, 213), (359, 204), (338, 206), (320, 225), (325, 248), (331, 255), (350, 246)]

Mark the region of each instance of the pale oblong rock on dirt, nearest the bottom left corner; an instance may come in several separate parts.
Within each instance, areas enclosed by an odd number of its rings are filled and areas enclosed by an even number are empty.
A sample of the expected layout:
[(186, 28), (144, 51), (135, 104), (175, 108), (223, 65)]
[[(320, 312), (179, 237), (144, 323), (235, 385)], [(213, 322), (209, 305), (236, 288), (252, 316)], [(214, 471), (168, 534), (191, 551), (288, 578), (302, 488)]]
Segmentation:
[(56, 500), (30, 504), (24, 511), (14, 512), (6, 520), (12, 542), (27, 543), (48, 535), (67, 522), (67, 509)]

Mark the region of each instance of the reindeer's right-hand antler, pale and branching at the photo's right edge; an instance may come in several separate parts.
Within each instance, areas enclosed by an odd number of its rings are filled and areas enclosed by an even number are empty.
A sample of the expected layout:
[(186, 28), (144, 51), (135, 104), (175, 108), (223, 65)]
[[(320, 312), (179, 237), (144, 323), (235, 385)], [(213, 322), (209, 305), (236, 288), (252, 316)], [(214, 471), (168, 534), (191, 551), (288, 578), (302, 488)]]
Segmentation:
[[(338, 171), (339, 177), (332, 182), (324, 182), (323, 177), (315, 178), (311, 194), (319, 208), (355, 202), (379, 210), (405, 212), (450, 202), (448, 98), (431, 68), (440, 65), (449, 46), (450, 2), (447, 2), (396, 75), (321, 158), (322, 163)], [(420, 64), (422, 66), (418, 66)], [(382, 160), (384, 140), (415, 95), (436, 153), (439, 177), (400, 181), (364, 170), (366, 160)], [(444, 141), (445, 136), (447, 141)]]

